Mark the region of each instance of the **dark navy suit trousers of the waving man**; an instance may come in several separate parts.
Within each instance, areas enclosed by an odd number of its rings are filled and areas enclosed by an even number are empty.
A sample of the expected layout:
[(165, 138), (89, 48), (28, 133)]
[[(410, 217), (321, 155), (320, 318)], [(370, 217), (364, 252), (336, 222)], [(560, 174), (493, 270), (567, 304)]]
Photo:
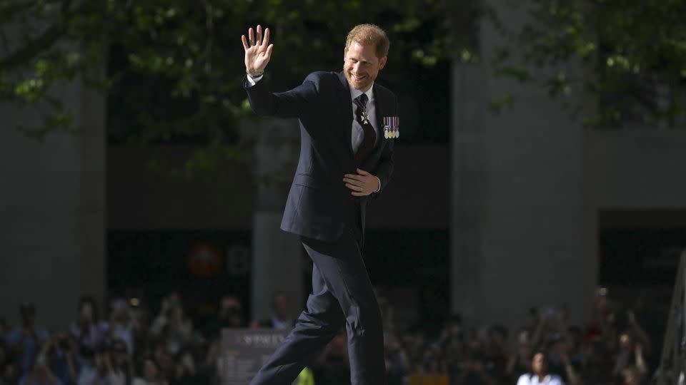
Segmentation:
[(361, 232), (346, 230), (336, 242), (302, 238), (312, 258), (307, 308), (252, 385), (291, 385), (345, 326), (353, 385), (386, 384), (381, 312), (359, 245)]

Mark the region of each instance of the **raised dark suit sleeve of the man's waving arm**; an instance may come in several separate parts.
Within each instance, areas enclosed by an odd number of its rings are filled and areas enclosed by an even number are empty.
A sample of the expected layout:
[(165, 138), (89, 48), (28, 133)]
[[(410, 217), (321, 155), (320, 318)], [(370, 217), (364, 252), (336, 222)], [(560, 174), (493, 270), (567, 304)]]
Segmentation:
[(265, 79), (261, 79), (254, 86), (250, 86), (247, 78), (243, 84), (248, 93), (248, 100), (252, 111), (257, 115), (276, 116), (278, 118), (299, 118), (305, 111), (312, 111), (317, 103), (318, 81), (311, 73), (301, 85), (285, 92), (272, 93)]

